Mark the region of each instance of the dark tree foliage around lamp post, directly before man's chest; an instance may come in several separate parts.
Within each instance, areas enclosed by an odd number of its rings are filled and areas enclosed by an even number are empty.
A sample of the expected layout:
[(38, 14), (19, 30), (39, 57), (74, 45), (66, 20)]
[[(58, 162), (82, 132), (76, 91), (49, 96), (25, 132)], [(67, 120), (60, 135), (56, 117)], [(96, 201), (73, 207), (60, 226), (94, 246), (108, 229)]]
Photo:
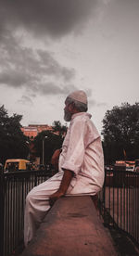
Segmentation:
[(60, 122), (54, 122), (53, 131), (43, 131), (34, 138), (33, 144), (36, 156), (41, 158), (41, 162), (43, 158), (43, 140), (44, 163), (50, 163), (55, 150), (62, 147), (63, 135), (66, 131), (66, 126), (61, 126)]

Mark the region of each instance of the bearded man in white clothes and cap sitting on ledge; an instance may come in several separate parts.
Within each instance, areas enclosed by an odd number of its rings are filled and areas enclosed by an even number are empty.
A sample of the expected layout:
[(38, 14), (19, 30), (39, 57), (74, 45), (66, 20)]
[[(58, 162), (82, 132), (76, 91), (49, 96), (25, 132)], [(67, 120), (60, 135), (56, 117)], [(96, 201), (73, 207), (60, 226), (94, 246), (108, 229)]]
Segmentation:
[(92, 195), (104, 183), (104, 157), (100, 135), (87, 111), (87, 96), (75, 91), (66, 98), (64, 120), (70, 122), (59, 158), (59, 172), (26, 198), (24, 217), (25, 246), (51, 205), (62, 196)]

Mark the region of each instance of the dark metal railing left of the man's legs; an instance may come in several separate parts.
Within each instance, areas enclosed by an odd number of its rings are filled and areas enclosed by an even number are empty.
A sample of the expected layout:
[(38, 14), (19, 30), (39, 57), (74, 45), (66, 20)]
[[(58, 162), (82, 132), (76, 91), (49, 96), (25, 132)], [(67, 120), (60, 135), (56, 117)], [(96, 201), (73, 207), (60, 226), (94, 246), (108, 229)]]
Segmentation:
[(23, 239), (25, 198), (52, 173), (30, 171), (0, 174), (0, 255), (9, 256)]

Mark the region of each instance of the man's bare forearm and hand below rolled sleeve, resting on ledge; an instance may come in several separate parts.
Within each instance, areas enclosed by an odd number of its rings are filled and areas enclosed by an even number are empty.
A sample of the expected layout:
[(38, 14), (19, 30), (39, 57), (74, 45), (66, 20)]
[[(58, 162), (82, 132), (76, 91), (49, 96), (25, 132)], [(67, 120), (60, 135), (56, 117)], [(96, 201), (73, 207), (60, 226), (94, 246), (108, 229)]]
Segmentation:
[(50, 205), (52, 206), (55, 201), (64, 196), (69, 188), (69, 184), (71, 182), (71, 179), (73, 177), (73, 172), (69, 171), (69, 170), (65, 170), (64, 171), (64, 174), (63, 174), (63, 178), (61, 180), (61, 184), (57, 190), (56, 193), (52, 194), (50, 197), (49, 197), (49, 200), (50, 200)]

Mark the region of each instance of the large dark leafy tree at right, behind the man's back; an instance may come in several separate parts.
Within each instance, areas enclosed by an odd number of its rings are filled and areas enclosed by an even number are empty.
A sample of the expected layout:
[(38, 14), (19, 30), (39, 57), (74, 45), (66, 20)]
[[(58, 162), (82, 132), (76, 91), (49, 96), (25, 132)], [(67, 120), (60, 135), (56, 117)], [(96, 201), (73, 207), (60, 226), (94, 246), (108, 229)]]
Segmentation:
[(107, 110), (102, 134), (106, 163), (139, 158), (139, 103)]

